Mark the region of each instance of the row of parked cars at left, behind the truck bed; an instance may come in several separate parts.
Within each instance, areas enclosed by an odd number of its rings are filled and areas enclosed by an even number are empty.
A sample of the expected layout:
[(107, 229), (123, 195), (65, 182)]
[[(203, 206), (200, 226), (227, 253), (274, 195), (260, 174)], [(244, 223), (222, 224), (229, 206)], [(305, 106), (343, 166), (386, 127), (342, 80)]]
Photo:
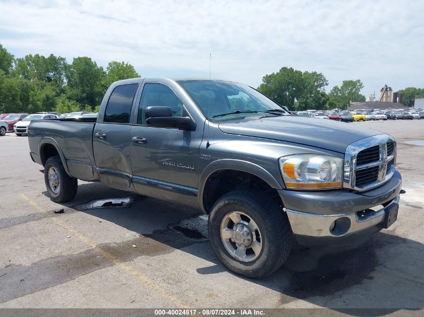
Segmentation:
[(86, 111), (64, 114), (57, 112), (37, 112), (31, 115), (29, 113), (0, 114), (0, 136), (4, 136), (8, 131), (13, 131), (18, 136), (28, 134), (28, 126), (32, 120), (95, 118), (97, 115), (97, 113)]

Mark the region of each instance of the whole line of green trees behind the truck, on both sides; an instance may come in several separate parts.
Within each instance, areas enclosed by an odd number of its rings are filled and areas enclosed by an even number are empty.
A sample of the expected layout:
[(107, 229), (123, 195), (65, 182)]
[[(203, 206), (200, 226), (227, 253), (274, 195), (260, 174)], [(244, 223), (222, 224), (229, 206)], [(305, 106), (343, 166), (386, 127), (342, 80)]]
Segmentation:
[[(140, 77), (134, 67), (124, 62), (110, 62), (106, 69), (89, 57), (65, 58), (36, 54), (15, 58), (0, 44), (0, 113), (39, 111), (97, 112), (107, 88), (114, 81)], [(328, 80), (322, 73), (302, 72), (282, 67), (265, 75), (257, 88), (280, 105), (291, 110), (346, 109), (350, 102), (365, 101), (364, 87), (358, 80), (346, 80), (325, 91)], [(408, 87), (403, 103), (413, 105), (424, 89)]]

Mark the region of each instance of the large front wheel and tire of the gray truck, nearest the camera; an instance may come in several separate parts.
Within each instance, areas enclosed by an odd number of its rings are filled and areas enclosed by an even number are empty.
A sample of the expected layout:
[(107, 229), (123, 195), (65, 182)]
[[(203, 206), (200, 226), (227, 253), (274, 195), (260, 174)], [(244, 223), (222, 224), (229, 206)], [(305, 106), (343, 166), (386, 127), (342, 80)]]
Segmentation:
[(287, 214), (271, 197), (257, 191), (236, 190), (219, 198), (209, 214), (208, 230), (220, 261), (246, 277), (271, 274), (292, 250)]

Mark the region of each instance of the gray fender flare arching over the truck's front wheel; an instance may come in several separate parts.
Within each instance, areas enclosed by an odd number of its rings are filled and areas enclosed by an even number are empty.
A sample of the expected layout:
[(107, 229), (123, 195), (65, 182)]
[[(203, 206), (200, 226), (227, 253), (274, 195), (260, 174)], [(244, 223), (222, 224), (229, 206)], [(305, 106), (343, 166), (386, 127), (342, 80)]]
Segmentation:
[(243, 160), (216, 160), (207, 165), (199, 177), (199, 206), (203, 212), (205, 212), (203, 207), (203, 191), (205, 189), (206, 181), (213, 173), (219, 170), (236, 170), (246, 172), (259, 177), (271, 188), (284, 189), (284, 187), (281, 186), (281, 184), (275, 179), (274, 176), (272, 176), (267, 170), (265, 170), (263, 167), (260, 167), (259, 165)]

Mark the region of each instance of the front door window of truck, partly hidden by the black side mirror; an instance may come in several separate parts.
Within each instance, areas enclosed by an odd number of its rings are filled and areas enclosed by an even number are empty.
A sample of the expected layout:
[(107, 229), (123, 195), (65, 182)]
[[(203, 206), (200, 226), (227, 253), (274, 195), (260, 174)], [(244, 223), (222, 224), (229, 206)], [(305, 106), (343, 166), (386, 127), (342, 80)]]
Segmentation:
[(151, 106), (166, 106), (171, 108), (173, 117), (181, 117), (183, 105), (167, 86), (147, 83), (143, 88), (142, 99), (138, 108), (137, 124), (146, 125), (146, 108)]

